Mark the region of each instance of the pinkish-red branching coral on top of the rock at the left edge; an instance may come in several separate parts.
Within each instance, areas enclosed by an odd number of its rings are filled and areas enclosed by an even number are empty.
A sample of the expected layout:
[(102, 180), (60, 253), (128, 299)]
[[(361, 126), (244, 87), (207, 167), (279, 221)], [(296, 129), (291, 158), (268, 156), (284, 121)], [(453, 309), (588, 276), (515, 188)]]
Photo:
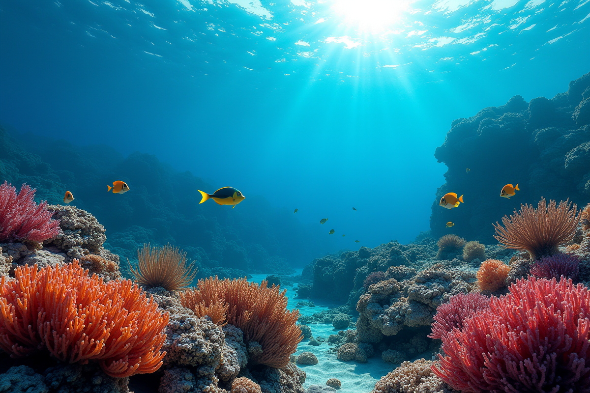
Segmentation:
[(43, 242), (60, 232), (60, 222), (51, 219), (47, 202), (37, 205), (34, 196), (35, 190), (26, 184), (18, 194), (6, 181), (0, 186), (0, 242)]

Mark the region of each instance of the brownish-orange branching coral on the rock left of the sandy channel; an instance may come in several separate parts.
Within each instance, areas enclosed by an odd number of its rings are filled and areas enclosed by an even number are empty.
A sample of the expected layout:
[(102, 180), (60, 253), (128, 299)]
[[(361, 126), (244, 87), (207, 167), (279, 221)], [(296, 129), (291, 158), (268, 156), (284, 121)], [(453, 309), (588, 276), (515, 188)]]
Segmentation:
[[(197, 288), (179, 293), (179, 298), (196, 315), (208, 315), (218, 325), (237, 326), (245, 341), (260, 344), (262, 354), (251, 356), (251, 362), (281, 368), (289, 364), (289, 356), (303, 337), (295, 324), (299, 311), (287, 311), (286, 292), (277, 286), (267, 288), (266, 281), (258, 285), (245, 278), (220, 280), (215, 276), (199, 280)], [(224, 310), (225, 318), (221, 318)]]

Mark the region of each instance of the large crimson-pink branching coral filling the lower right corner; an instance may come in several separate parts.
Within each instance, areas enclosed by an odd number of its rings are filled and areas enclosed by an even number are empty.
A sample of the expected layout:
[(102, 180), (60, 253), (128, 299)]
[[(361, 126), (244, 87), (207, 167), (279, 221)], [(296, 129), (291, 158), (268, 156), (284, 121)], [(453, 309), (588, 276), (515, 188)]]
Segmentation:
[(529, 276), (442, 336), (432, 371), (464, 393), (590, 392), (590, 292)]

